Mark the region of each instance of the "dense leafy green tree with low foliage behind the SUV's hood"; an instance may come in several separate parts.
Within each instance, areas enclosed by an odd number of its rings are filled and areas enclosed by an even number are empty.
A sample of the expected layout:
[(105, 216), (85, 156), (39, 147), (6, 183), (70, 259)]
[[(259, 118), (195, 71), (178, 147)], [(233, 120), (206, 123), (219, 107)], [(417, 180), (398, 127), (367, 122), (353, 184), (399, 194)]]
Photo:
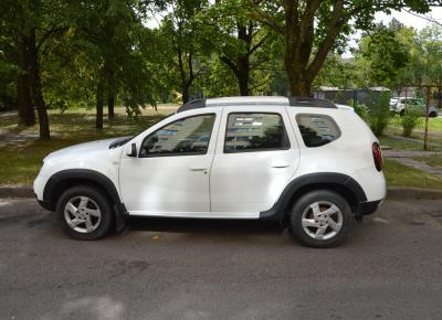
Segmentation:
[(92, 78), (95, 127), (103, 129), (105, 102), (113, 117), (118, 95), (129, 115), (138, 114), (145, 104), (155, 105), (152, 75), (144, 60), (152, 34), (143, 25), (140, 2), (94, 0), (74, 6), (72, 46), (87, 64), (85, 82)]

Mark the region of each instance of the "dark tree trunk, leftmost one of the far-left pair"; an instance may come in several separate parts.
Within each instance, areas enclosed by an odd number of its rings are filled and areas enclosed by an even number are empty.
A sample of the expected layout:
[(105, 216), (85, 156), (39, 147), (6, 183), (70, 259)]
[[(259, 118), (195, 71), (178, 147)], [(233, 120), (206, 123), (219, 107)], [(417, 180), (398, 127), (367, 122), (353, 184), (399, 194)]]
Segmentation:
[(32, 105), (30, 77), (28, 72), (28, 40), (19, 34), (17, 42), (19, 76), (17, 78), (17, 106), (19, 110), (19, 125), (35, 125), (35, 113)]

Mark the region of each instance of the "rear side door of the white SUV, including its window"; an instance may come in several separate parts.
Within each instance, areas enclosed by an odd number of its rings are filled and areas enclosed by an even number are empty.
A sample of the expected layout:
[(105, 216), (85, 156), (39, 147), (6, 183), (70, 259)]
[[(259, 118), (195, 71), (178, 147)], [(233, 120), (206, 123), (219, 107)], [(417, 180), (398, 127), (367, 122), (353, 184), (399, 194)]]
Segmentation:
[(299, 163), (285, 108), (224, 107), (210, 177), (212, 214), (256, 218), (272, 207)]

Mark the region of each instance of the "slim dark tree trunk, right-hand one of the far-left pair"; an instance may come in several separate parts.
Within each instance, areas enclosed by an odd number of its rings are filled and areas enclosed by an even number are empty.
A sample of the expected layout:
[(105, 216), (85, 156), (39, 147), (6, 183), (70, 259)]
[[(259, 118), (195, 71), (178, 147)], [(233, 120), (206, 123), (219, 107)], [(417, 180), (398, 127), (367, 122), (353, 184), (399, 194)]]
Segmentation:
[(39, 115), (40, 139), (48, 140), (51, 138), (51, 134), (40, 78), (39, 56), (35, 46), (35, 28), (31, 29), (29, 38), (29, 71), (31, 75), (32, 99)]

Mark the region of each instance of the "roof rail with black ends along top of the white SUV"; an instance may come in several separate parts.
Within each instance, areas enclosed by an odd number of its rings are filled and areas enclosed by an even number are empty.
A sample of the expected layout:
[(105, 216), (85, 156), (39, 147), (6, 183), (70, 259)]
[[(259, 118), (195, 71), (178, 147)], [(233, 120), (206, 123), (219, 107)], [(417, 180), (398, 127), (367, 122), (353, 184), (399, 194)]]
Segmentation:
[[(238, 97), (235, 97), (238, 98)], [(242, 98), (242, 97), (241, 97)], [(245, 97), (244, 97), (245, 98)], [(242, 102), (238, 102), (236, 104), (250, 104), (253, 106), (259, 106), (260, 102), (255, 99), (256, 97), (254, 97), (253, 100), (251, 102), (246, 102), (245, 99), (243, 99)], [(276, 97), (275, 97), (276, 98)], [(278, 99), (282, 99), (283, 97), (280, 97)], [(217, 98), (214, 100), (219, 100), (220, 98)], [(199, 109), (199, 108), (206, 108), (206, 107), (210, 107), (210, 106), (225, 106), (225, 105), (232, 105), (233, 103), (231, 102), (222, 102), (220, 104), (212, 104), (213, 100), (211, 100), (209, 104), (207, 104), (208, 99), (194, 99), (191, 102), (187, 102), (186, 104), (181, 105), (178, 109), (177, 109), (177, 114), (178, 113), (182, 113), (186, 110), (191, 110), (191, 109)], [(288, 103), (288, 104), (287, 104)], [(285, 105), (285, 106), (292, 106), (292, 107), (313, 107), (313, 108), (334, 108), (336, 109), (337, 106), (326, 99), (317, 99), (317, 98), (306, 98), (306, 97), (285, 97), (284, 102), (280, 100), (280, 102), (263, 102), (262, 105)]]

